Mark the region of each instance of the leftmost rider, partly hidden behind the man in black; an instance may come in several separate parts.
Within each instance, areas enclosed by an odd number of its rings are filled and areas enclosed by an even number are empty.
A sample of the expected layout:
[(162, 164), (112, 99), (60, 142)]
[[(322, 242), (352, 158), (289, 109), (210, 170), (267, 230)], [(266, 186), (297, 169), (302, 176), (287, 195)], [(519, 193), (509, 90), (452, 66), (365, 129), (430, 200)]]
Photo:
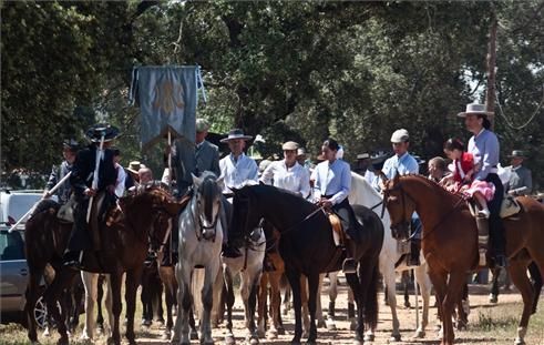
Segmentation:
[[(73, 139), (65, 140), (62, 143), (62, 156), (64, 158), (64, 161), (62, 161), (61, 165), (53, 165), (51, 174), (49, 175), (48, 184), (45, 185), (45, 191), (43, 192), (44, 199), (51, 197), (52, 194), (49, 191), (72, 171), (79, 149), (79, 143)], [(57, 189), (55, 195), (59, 204), (63, 205), (68, 203), (71, 191), (72, 186), (70, 185), (70, 181), (65, 181)]]

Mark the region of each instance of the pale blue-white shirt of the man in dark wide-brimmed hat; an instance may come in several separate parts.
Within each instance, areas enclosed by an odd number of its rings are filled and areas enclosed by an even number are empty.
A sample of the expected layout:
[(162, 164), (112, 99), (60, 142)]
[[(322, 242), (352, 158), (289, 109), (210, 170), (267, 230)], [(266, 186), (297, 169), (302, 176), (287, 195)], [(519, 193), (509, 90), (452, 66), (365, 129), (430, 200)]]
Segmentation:
[(224, 179), (223, 193), (232, 193), (229, 186), (242, 187), (246, 181), (253, 180), (258, 182), (259, 170), (257, 163), (244, 153), (235, 162), (230, 153), (219, 161), (220, 175)]

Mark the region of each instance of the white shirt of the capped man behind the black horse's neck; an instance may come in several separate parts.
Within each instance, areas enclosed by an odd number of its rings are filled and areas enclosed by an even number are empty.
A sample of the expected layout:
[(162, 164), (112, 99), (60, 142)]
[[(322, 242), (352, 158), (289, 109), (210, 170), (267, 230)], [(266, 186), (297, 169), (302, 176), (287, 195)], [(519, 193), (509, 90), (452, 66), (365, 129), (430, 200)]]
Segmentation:
[(263, 172), (260, 181), (279, 189), (299, 193), (302, 197), (310, 193), (310, 174), (306, 168), (295, 162), (287, 168), (285, 160), (271, 162)]

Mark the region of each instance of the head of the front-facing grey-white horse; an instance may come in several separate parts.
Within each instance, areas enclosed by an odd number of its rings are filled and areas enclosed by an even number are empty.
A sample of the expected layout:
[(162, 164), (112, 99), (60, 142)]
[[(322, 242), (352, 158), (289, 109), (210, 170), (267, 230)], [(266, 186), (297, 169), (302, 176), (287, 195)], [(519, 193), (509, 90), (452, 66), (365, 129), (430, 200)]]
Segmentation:
[(213, 172), (205, 171), (201, 177), (193, 175), (195, 215), (204, 240), (215, 239), (222, 211), (222, 186), (223, 177), (217, 179)]

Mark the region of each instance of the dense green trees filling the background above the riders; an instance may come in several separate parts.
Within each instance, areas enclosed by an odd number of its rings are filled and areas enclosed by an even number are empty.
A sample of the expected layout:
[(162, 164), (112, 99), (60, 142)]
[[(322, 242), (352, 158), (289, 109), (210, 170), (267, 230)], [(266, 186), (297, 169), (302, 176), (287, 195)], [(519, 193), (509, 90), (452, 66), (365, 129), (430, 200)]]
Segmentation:
[[(544, 1), (3, 1), (2, 181), (48, 173), (65, 138), (100, 120), (122, 129), (124, 163), (141, 153), (127, 105), (134, 65), (199, 64), (198, 113), (214, 132), (261, 134), (266, 156), (297, 140), (316, 154), (328, 135), (352, 161), (389, 149), (406, 128), (412, 151), (468, 140), (454, 116), (484, 101), (490, 20), (499, 19), (495, 131), (503, 164), (531, 154), (544, 183)], [(500, 106), (499, 106), (500, 105)], [(158, 173), (158, 171), (156, 171)]]

